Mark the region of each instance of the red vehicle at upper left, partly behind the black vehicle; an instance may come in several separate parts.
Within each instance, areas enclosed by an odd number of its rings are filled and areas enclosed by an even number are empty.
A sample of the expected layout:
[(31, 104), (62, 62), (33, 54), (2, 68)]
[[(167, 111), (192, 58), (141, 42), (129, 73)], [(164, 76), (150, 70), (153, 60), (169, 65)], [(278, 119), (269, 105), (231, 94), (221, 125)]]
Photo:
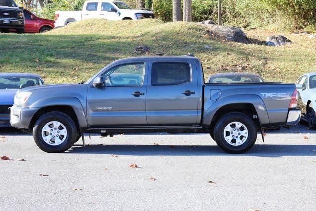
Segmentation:
[(24, 32), (42, 33), (55, 28), (55, 21), (37, 17), (27, 9), (24, 9)]

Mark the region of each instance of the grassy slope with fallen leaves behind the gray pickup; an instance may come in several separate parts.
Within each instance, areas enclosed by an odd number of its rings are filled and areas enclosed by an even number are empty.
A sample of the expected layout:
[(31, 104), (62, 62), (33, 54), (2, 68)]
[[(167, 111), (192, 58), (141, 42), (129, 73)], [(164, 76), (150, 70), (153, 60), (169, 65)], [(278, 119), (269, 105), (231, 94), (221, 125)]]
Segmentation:
[[(295, 82), (304, 72), (316, 71), (316, 39), (267, 30), (246, 31), (252, 40), (285, 35), (293, 44), (268, 47), (207, 38), (196, 23), (158, 20), (84, 20), (45, 34), (0, 34), (0, 72), (41, 75), (47, 84), (85, 81), (110, 62), (136, 56), (146, 45), (150, 55), (194, 53), (205, 77), (218, 72), (253, 72), (267, 81)], [(258, 42), (260, 43), (260, 42)], [(207, 49), (205, 45), (211, 47)]]

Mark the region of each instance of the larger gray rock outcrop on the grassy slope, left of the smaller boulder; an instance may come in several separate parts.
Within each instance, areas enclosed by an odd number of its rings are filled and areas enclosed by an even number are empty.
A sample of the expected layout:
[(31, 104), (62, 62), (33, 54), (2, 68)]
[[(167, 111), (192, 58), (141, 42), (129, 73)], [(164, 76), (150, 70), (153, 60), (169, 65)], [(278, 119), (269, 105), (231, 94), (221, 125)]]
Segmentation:
[(245, 44), (249, 43), (246, 34), (237, 27), (220, 26), (215, 24), (207, 24), (203, 22), (201, 23), (208, 27), (207, 32), (213, 38), (219, 37), (224, 38), (228, 41), (241, 42)]

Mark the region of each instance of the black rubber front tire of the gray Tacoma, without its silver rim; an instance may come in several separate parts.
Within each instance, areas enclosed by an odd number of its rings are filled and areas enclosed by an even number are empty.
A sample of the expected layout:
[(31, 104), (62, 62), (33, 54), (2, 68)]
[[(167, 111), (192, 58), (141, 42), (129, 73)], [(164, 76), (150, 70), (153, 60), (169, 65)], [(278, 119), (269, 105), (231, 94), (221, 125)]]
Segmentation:
[[(58, 121), (62, 123), (67, 129), (67, 136), (66, 136), (65, 141), (57, 146), (47, 144), (44, 141), (41, 134), (42, 128), (51, 121)], [(73, 119), (69, 117), (67, 114), (58, 112), (58, 111), (48, 112), (42, 115), (36, 121), (33, 127), (33, 138), (35, 140), (36, 145), (38, 145), (38, 147), (41, 150), (45, 152), (49, 152), (49, 153), (65, 152), (74, 144), (74, 142), (77, 140), (76, 139), (77, 137), (78, 137), (78, 130)]]

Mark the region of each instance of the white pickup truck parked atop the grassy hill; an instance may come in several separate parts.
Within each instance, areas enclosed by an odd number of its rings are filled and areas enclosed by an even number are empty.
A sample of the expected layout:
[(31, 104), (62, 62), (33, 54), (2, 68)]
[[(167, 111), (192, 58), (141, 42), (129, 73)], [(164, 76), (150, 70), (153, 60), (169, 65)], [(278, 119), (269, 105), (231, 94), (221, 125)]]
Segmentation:
[(82, 11), (56, 11), (55, 28), (89, 18), (139, 20), (143, 18), (154, 18), (154, 13), (147, 10), (132, 9), (121, 1), (89, 0), (83, 4)]

